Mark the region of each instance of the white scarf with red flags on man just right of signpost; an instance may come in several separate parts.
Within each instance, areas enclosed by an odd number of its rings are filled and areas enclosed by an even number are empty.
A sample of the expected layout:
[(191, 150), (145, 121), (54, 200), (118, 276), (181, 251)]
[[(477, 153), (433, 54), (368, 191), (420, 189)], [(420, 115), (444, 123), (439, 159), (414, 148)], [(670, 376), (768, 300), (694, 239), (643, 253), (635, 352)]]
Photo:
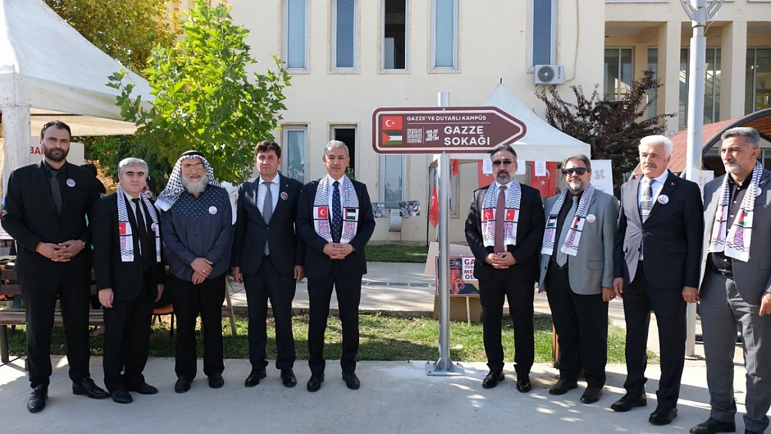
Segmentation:
[[(517, 180), (512, 180), (509, 188), (511, 191), (506, 194), (506, 209), (503, 211), (503, 245), (516, 246), (522, 187)], [(495, 210), (499, 191), (500, 184), (493, 183), (487, 188), (482, 202), (482, 241), (485, 247), (495, 247)]]

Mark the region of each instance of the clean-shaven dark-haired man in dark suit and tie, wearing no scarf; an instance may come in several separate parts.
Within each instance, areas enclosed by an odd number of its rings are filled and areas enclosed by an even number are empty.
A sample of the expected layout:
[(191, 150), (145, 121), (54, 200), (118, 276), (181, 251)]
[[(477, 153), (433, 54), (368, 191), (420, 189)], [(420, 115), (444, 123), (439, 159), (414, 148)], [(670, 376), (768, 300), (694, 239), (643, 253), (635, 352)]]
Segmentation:
[(265, 319), (271, 299), (276, 324), (276, 368), (286, 387), (297, 384), (295, 337), (291, 331), (291, 301), (303, 278), (305, 243), (295, 236), (297, 202), (302, 184), (278, 173), (281, 146), (264, 140), (254, 151), (260, 176), (238, 189), (238, 207), (231, 265), (233, 277), (244, 284), (249, 308), (249, 362), (244, 385), (254, 387), (265, 378)]

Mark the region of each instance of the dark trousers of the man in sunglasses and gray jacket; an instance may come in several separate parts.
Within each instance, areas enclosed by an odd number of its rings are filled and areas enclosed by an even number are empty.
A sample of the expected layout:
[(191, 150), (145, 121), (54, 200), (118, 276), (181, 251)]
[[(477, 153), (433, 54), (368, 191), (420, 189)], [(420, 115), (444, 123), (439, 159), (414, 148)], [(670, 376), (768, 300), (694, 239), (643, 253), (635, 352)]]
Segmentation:
[(602, 294), (571, 290), (567, 268), (549, 265), (546, 274), (551, 318), (560, 344), (560, 378), (574, 382), (584, 370), (589, 387), (605, 385), (608, 363), (608, 303)]

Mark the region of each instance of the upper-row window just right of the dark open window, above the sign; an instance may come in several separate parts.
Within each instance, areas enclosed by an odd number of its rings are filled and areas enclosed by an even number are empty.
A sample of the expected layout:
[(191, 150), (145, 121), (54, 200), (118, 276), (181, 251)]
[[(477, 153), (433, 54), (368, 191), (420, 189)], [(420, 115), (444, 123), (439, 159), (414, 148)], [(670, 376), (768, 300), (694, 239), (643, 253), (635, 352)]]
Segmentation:
[(431, 69), (458, 69), (458, 0), (433, 0)]

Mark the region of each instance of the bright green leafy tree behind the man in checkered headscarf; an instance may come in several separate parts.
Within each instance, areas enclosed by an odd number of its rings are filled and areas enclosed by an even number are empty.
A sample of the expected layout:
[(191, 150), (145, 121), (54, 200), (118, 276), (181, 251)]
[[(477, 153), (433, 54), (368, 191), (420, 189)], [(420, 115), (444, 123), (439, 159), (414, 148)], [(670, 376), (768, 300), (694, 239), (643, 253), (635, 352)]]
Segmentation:
[(108, 86), (121, 92), (124, 119), (138, 126), (133, 154), (173, 165), (180, 153), (195, 149), (220, 180), (240, 183), (251, 175), (254, 145), (278, 130), (290, 76), (273, 56), (277, 71), (254, 73), (250, 82), (246, 69), (257, 61), (245, 42), (248, 30), (233, 24), (230, 10), (196, 0), (180, 20), (183, 38), (153, 49), (144, 71), (155, 96), (150, 109), (131, 96), (125, 71), (109, 77)]

